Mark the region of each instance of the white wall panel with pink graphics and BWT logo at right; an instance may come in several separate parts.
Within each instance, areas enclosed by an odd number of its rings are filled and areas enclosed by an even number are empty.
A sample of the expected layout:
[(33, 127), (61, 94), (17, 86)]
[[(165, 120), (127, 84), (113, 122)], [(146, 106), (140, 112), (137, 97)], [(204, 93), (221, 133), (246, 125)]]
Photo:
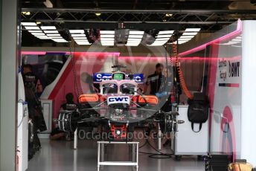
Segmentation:
[(241, 150), (241, 43), (237, 34), (218, 45), (211, 123), (210, 151), (233, 153), (234, 158), (240, 158)]

